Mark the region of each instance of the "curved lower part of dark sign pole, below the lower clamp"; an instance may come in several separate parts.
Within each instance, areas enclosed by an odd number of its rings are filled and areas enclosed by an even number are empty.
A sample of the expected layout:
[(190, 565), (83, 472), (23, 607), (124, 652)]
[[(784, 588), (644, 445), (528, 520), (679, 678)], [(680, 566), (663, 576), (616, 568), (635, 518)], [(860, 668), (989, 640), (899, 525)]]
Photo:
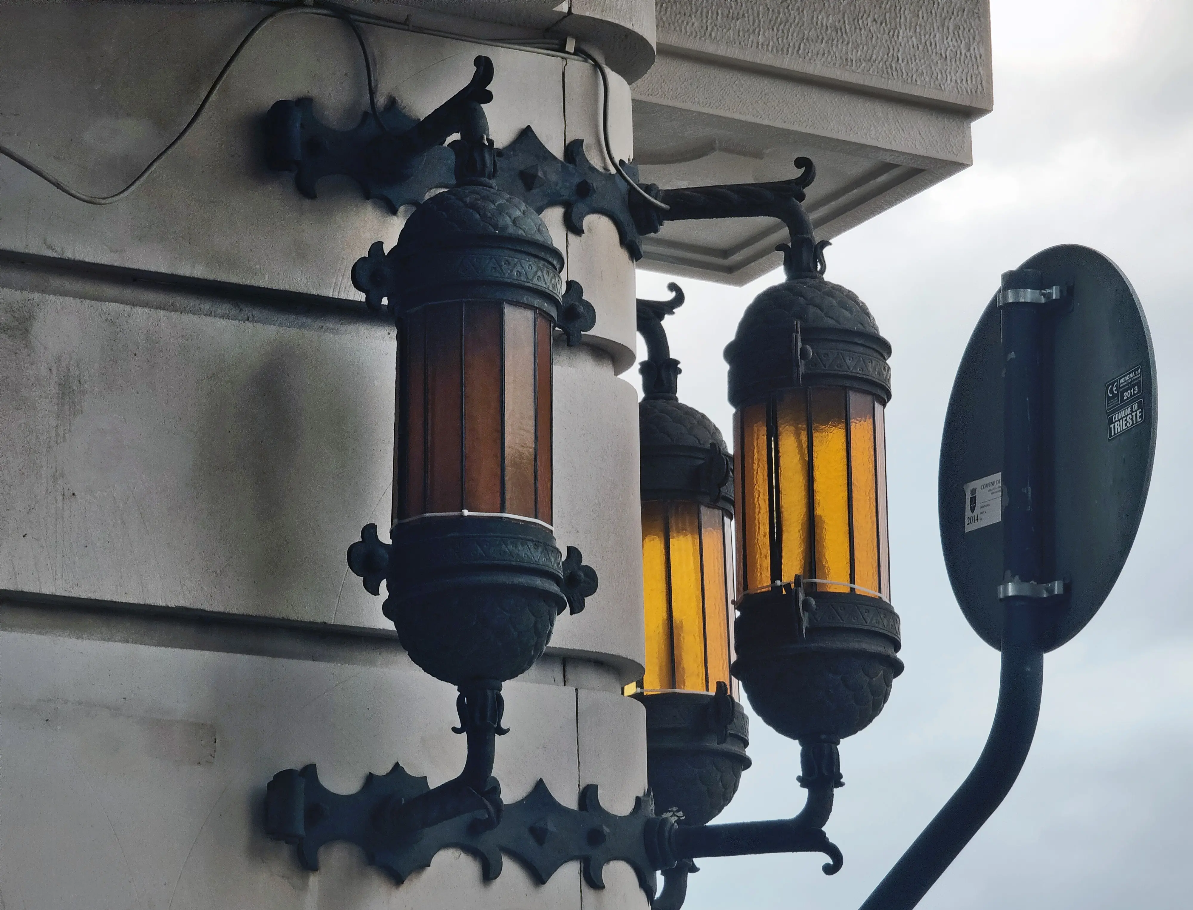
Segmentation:
[(1034, 604), (1008, 603), (994, 725), (977, 764), (860, 910), (910, 910), (1010, 792), (1040, 713), (1044, 652)]

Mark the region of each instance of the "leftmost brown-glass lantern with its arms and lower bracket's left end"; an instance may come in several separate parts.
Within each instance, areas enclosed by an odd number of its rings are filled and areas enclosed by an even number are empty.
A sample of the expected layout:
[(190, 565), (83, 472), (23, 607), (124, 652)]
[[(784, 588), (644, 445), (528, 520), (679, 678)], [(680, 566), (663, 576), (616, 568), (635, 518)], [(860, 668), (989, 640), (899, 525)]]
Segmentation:
[[(302, 808), (322, 791), (314, 767), (282, 771), (270, 785), (271, 832), (298, 843), (308, 865), (353, 826), (358, 837), (346, 840), (370, 851), (476, 813), (474, 828), (495, 828), (501, 683), (530, 669), (555, 617), (596, 590), (595, 572), (574, 547), (563, 558), (551, 529), (552, 332), (576, 344), (595, 313), (577, 283), (564, 290), (543, 220), (493, 183), (481, 107), (493, 64), (478, 57), (476, 68), (452, 143), (457, 185), (421, 204), (388, 254), (375, 244), (353, 268), (370, 307), (388, 300), (400, 351), (390, 542), (367, 525), (348, 551), (370, 592), (385, 580), (383, 611), (414, 663), (459, 688), (468, 760), (432, 791), (366, 783), (358, 801), (340, 798), (342, 816)], [(410, 779), (396, 767), (376, 780)]]

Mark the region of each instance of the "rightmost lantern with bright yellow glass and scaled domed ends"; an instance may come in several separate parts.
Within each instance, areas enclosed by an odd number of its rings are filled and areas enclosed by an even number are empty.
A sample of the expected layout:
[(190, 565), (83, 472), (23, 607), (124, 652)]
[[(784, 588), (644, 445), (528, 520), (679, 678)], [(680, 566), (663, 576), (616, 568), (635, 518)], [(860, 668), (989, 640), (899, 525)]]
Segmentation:
[(890, 345), (858, 296), (824, 279), (822, 248), (796, 219), (786, 281), (749, 306), (725, 359), (734, 672), (780, 733), (834, 743), (877, 717), (903, 665), (886, 531)]

